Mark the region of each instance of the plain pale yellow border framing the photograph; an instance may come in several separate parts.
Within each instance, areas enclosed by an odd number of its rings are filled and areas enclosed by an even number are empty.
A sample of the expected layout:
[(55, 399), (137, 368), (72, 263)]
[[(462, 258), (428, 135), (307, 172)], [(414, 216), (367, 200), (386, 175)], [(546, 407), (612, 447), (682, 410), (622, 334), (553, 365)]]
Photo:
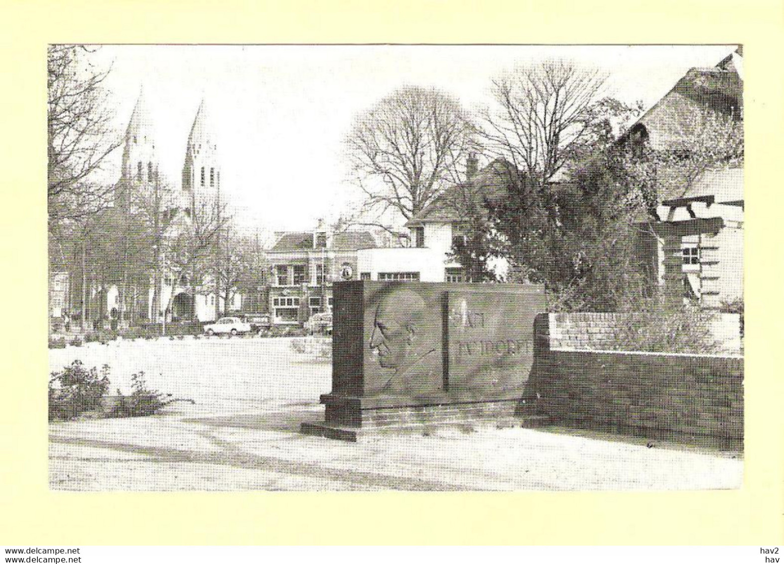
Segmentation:
[[(0, 543), (782, 544), (782, 4), (2, 2)], [(743, 43), (746, 477), (692, 493), (60, 493), (47, 480), (49, 42)]]

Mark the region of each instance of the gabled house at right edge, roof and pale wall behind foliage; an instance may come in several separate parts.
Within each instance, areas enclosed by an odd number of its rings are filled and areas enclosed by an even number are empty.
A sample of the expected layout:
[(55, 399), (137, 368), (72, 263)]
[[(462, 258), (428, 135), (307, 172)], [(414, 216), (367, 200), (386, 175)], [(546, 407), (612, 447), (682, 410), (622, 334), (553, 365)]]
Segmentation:
[[(682, 150), (700, 139), (706, 112), (743, 119), (742, 47), (715, 67), (693, 68), (629, 129), (632, 150)], [(658, 221), (644, 225), (641, 256), (667, 300), (717, 310), (743, 297), (743, 168), (728, 162), (689, 183), (659, 185)], [(646, 256), (647, 254), (647, 256)]]

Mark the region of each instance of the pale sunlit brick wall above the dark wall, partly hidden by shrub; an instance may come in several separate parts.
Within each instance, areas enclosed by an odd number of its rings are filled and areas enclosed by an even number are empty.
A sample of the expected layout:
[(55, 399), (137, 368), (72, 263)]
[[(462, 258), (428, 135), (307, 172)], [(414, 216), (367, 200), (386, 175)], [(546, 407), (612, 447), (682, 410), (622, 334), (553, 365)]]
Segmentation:
[[(549, 316), (550, 347), (564, 350), (613, 350), (617, 328), (624, 322), (622, 313), (552, 313)], [(703, 314), (704, 315), (704, 314)], [(738, 355), (742, 349), (740, 316), (710, 314), (707, 321), (720, 352)]]

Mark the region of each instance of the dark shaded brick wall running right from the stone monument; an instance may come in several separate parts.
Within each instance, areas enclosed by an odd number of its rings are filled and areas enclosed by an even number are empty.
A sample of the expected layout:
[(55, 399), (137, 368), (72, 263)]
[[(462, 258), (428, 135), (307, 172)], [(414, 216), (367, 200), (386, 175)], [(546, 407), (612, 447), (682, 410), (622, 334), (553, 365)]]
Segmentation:
[(741, 356), (559, 350), (548, 347), (549, 325), (537, 319), (528, 381), (539, 413), (578, 427), (742, 442)]

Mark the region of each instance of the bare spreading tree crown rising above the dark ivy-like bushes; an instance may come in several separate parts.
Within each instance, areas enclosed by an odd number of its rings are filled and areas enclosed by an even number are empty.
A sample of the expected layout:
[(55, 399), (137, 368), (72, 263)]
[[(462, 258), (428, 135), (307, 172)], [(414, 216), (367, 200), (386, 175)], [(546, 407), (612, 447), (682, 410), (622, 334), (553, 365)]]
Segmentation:
[[(606, 124), (606, 76), (564, 61), (524, 67), (492, 82), (495, 107), (483, 112), (488, 155), (503, 158), (545, 189), (570, 158), (596, 144)], [(517, 175), (516, 175), (517, 176)]]

